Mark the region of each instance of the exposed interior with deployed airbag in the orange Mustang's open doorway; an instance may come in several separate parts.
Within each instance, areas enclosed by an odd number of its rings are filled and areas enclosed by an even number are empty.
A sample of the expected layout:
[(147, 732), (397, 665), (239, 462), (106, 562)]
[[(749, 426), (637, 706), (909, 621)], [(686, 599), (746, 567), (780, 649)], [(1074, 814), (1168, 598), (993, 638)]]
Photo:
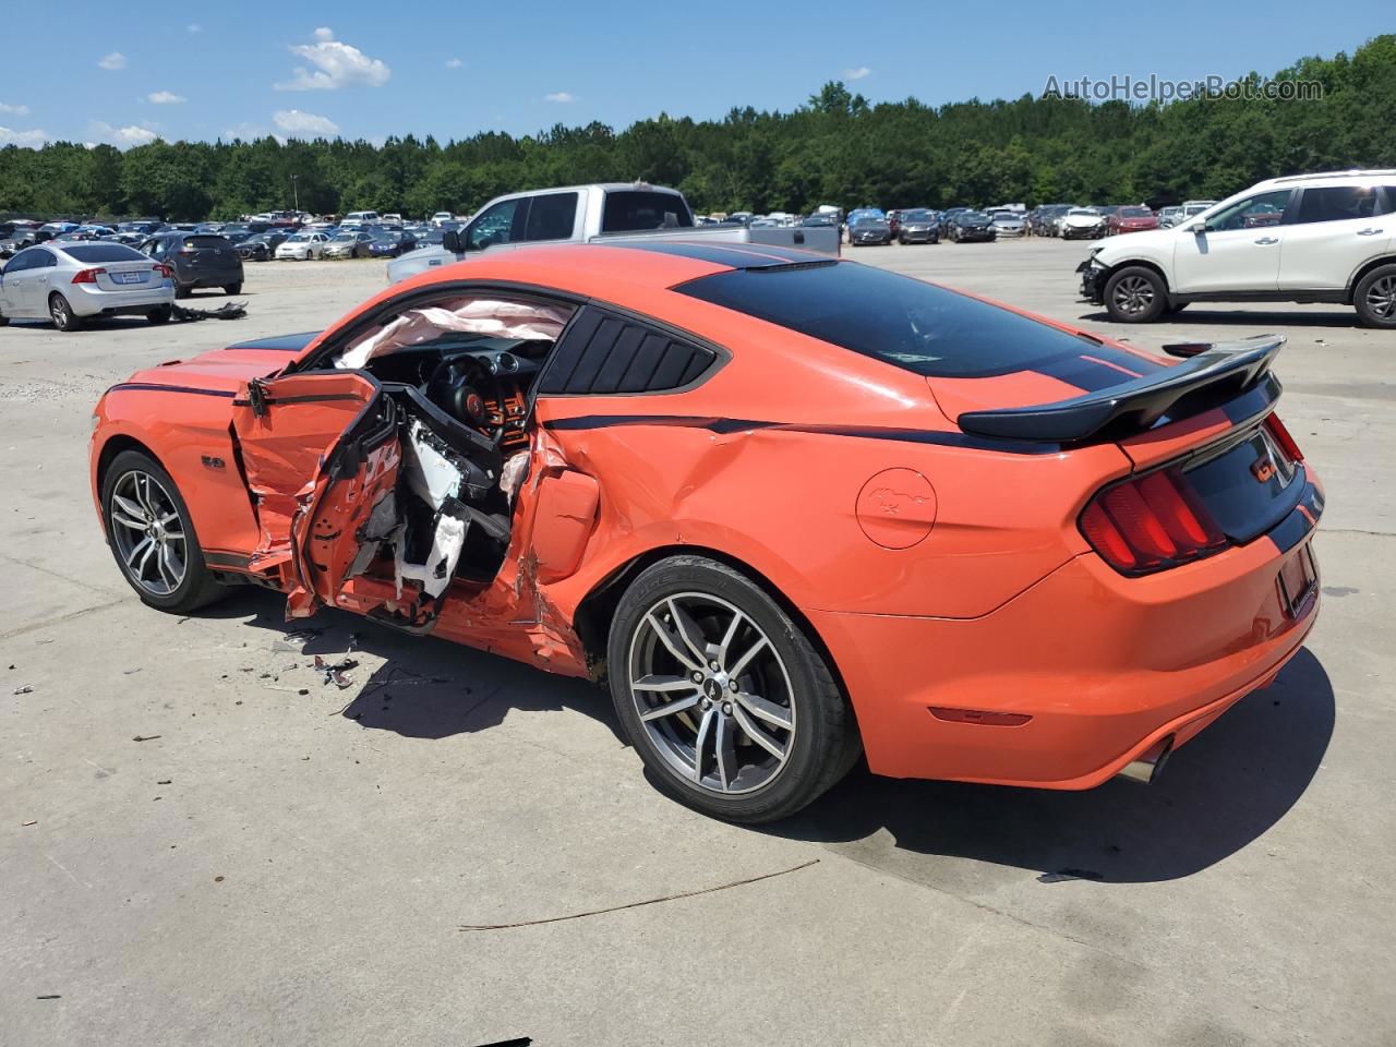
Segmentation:
[(405, 310), (332, 357), (378, 380), (402, 450), (395, 490), (360, 528), (353, 572), (391, 554), (399, 591), (419, 581), (430, 597), (454, 578), (494, 578), (528, 470), (529, 395), (572, 313), (455, 297)]

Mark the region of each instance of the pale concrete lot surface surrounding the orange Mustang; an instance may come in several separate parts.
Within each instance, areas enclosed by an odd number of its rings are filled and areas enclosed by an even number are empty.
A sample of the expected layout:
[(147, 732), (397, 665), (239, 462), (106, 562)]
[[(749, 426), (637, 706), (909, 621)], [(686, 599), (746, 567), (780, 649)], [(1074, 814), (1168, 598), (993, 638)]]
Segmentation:
[[(322, 328), (381, 262), (248, 265), (237, 322), (0, 331), (0, 1040), (1390, 1044), (1396, 335), (1333, 306), (1117, 328), (1076, 302), (1085, 253), (852, 257), (1138, 345), (1286, 332), (1329, 493), (1308, 649), (1157, 786), (854, 772), (761, 832), (662, 799), (585, 684), (336, 613), (297, 653), (274, 595), (177, 620), (121, 581), (101, 392)], [(322, 687), (352, 632), (356, 685)]]

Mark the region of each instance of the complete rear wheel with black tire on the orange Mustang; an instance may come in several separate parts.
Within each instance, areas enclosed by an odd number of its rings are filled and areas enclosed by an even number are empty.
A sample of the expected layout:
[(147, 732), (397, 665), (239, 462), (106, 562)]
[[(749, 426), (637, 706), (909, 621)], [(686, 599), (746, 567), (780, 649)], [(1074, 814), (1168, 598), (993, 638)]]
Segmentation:
[[(678, 631), (684, 623), (701, 634), (688, 635), (702, 659)], [(853, 712), (801, 628), (765, 591), (713, 560), (674, 556), (637, 577), (611, 620), (607, 664), (616, 712), (655, 785), (713, 818), (786, 818), (861, 752)], [(664, 690), (634, 685), (646, 680)], [(641, 709), (670, 705), (678, 708), (641, 719)]]

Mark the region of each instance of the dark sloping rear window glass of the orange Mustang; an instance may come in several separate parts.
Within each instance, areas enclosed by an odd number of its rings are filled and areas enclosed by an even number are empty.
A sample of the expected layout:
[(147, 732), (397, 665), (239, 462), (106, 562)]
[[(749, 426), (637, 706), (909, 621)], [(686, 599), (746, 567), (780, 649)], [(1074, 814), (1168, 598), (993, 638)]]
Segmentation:
[(733, 269), (674, 290), (930, 377), (1033, 370), (1083, 348), (1011, 310), (857, 262)]

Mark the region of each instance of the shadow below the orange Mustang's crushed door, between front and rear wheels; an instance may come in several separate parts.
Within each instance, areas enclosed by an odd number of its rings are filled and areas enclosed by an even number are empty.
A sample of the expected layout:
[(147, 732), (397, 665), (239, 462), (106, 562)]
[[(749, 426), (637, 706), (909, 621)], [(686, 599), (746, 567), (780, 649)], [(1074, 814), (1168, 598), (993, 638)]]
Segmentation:
[[(511, 711), (572, 709), (606, 725), (620, 740), (610, 692), (586, 680), (554, 676), (445, 639), (398, 632), (348, 611), (328, 609), (288, 623), (285, 606), (286, 599), (278, 593), (247, 588), (197, 614), (240, 618), (247, 627), (264, 630), (265, 642), (253, 646), (267, 652), (268, 664), (296, 664), (295, 670), (278, 673), (278, 688), (342, 695), (339, 715), (367, 730), (447, 738), (494, 727)], [(315, 655), (336, 664), (345, 659), (359, 662), (364, 653), (385, 660), (374, 671), (362, 664), (345, 670), (352, 684), (342, 691), (313, 669)]]

